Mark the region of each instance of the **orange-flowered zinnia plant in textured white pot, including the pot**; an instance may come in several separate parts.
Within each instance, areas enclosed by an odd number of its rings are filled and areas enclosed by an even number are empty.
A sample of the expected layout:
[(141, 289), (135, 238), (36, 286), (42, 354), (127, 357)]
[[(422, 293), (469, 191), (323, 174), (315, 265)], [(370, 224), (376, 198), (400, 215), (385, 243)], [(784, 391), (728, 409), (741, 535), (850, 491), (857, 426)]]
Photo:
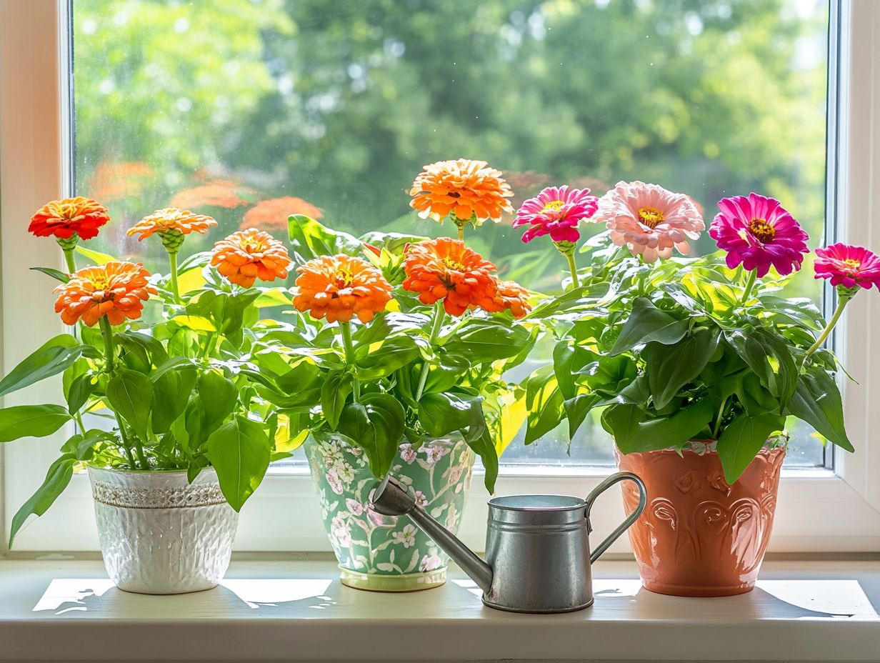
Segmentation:
[[(238, 510), (279, 453), (279, 416), (241, 369), (258, 307), (277, 304), (271, 291), (251, 286), (286, 276), (290, 258), (280, 242), (246, 231), (179, 267), (187, 234), (216, 222), (165, 209), (128, 232), (161, 238), (170, 275), (150, 275), (141, 264), (77, 247), (108, 220), (105, 207), (76, 198), (48, 203), (31, 222), (31, 232), (62, 246), (68, 271), (40, 271), (61, 282), (55, 311), (74, 329), (13, 368), (0, 395), (61, 373), (65, 400), (0, 409), (0, 441), (45, 437), (67, 424), (76, 431), (12, 519), (10, 545), (29, 515), (46, 512), (73, 472), (88, 468), (116, 585), (140, 593), (208, 589), (229, 564)], [(98, 264), (77, 269), (77, 251)]]

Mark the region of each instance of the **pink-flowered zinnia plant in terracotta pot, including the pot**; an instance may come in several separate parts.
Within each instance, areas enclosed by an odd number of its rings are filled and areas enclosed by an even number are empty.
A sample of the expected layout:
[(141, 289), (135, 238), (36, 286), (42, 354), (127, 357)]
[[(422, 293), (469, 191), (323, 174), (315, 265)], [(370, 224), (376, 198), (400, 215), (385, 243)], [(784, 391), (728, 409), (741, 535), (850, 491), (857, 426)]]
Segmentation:
[[(825, 324), (809, 299), (780, 292), (809, 249), (773, 198), (722, 200), (709, 229), (721, 250), (696, 259), (672, 257), (704, 230), (686, 195), (620, 182), (597, 207), (590, 221), (608, 230), (582, 247), (589, 266), (573, 267), (576, 287), (533, 313), (560, 340), (554, 365), (528, 382), (528, 440), (563, 419), (574, 434), (602, 408), (620, 468), (648, 487), (630, 529), (644, 586), (747, 592), (773, 526), (787, 421), (853, 451), (839, 365), (823, 343), (860, 288), (880, 287), (880, 259), (862, 247), (817, 249), (816, 277), (837, 286)], [(634, 496), (624, 497), (632, 510)]]

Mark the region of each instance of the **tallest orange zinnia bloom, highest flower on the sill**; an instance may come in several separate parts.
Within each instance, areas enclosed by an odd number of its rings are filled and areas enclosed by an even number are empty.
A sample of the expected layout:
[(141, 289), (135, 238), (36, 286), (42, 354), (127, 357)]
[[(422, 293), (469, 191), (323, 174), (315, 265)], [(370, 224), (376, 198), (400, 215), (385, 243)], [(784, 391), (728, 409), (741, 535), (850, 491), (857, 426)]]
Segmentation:
[(468, 158), (425, 166), (409, 195), (413, 196), (410, 207), (419, 210), (420, 217), (435, 221), (452, 213), (463, 222), (475, 218), (479, 225), (488, 218), (497, 222), (502, 212), (513, 211), (507, 200), (513, 192), (501, 172), (485, 161)]

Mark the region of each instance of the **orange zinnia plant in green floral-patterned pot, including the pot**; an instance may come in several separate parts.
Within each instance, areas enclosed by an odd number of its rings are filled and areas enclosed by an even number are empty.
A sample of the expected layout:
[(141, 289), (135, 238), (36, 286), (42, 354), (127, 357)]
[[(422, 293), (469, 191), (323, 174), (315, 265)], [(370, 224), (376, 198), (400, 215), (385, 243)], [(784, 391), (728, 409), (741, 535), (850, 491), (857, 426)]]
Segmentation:
[[(467, 186), (450, 189), (459, 210)], [(390, 472), (457, 531), (474, 454), (494, 489), (498, 456), (524, 421), (522, 390), (502, 373), (534, 342), (514, 321), (528, 293), (460, 239), (356, 239), (302, 216), (290, 218), (290, 238), (301, 314), (260, 335), (255, 379), (293, 430), (311, 433), (305, 452), (341, 581), (441, 585), (448, 557), (407, 517), (373, 512), (370, 490)]]

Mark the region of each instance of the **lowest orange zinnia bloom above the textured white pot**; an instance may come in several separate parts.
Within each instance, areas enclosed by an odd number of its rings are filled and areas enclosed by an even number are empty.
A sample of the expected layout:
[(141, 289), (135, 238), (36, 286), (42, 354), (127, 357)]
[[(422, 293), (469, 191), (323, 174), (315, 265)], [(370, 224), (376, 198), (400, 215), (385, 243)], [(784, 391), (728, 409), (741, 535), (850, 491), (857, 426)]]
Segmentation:
[(61, 313), (65, 324), (77, 320), (92, 327), (106, 316), (111, 325), (121, 325), (126, 318), (141, 317), (143, 302), (155, 295), (147, 283), (150, 272), (142, 264), (107, 262), (97, 267), (84, 267), (70, 276), (70, 281), (55, 288), (55, 313)]

